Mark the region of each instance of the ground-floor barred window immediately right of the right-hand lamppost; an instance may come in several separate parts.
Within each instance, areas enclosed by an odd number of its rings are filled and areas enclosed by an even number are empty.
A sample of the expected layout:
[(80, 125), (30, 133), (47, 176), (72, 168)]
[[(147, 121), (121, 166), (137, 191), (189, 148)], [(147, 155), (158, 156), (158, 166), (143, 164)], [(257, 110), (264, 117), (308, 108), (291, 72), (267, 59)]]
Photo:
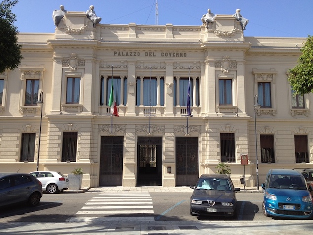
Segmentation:
[(274, 135), (260, 135), (261, 162), (275, 163)]

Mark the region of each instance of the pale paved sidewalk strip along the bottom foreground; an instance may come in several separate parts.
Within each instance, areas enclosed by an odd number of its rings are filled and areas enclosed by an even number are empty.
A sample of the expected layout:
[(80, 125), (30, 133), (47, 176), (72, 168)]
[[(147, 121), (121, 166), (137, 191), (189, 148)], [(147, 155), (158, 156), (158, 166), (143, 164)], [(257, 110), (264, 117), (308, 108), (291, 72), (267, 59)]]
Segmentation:
[[(77, 218), (78, 219), (78, 218)], [(1, 235), (296, 235), (311, 234), (312, 220), (145, 221), (144, 217), (88, 222), (0, 223)]]

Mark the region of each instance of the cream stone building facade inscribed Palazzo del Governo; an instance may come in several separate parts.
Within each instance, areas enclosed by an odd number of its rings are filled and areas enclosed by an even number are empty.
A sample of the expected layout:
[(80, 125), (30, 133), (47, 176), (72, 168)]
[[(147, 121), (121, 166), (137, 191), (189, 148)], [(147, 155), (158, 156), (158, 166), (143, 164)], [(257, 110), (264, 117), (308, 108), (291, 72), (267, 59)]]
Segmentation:
[(129, 187), (192, 185), (220, 162), (247, 186), (311, 168), (313, 97), (287, 79), (305, 40), (244, 37), (232, 15), (94, 25), (68, 11), (55, 33), (20, 33), (24, 59), (0, 74), (0, 169), (82, 167), (84, 186)]

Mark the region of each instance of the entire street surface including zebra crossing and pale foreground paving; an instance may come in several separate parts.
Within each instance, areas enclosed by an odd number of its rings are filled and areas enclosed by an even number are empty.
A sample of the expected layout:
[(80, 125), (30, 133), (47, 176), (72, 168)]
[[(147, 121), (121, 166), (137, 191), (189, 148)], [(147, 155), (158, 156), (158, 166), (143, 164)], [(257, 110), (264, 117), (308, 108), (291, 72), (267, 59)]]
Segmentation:
[[(312, 220), (263, 216), (261, 193), (238, 193), (237, 217), (193, 217), (190, 192), (44, 194), (39, 207), (0, 210), (0, 234), (305, 234)], [(125, 204), (125, 201), (128, 203)]]

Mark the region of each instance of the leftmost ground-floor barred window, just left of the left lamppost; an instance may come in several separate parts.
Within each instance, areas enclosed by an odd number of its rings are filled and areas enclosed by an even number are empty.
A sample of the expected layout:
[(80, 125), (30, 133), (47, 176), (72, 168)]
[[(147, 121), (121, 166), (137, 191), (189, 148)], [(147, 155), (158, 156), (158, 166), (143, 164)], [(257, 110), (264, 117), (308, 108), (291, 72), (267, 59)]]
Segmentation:
[(35, 133), (22, 133), (20, 162), (33, 162), (35, 157)]

